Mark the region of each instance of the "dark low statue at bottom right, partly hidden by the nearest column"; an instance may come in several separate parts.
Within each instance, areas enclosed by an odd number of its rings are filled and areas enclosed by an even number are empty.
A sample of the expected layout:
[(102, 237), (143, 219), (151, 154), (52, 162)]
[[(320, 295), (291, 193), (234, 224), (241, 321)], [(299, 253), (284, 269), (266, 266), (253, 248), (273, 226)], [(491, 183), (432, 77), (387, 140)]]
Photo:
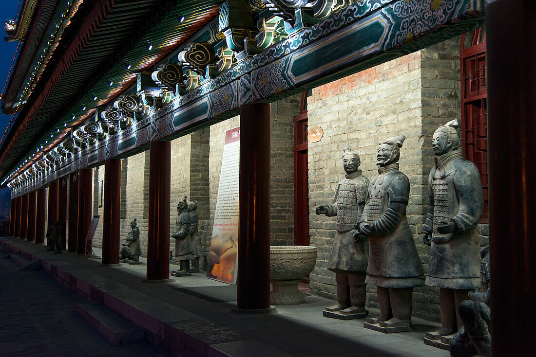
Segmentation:
[(451, 357), (492, 355), (489, 245), (482, 248), (480, 256), (482, 257), (480, 292), (470, 292), (469, 300), (460, 303), (459, 315), (463, 327), (450, 340)]

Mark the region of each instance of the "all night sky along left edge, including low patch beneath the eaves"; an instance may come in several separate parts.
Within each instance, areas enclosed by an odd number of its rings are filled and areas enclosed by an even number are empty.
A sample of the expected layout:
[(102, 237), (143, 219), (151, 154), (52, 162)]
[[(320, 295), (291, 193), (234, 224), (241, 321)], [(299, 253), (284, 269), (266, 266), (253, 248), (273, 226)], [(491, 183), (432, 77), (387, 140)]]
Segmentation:
[[(20, 3), (23, 3), (21, 1)], [(0, 90), (4, 89), (4, 84), (6, 80), (9, 79), (9, 70), (11, 64), (13, 63), (13, 56), (15, 56), (15, 51), (17, 50), (18, 41), (6, 42), (4, 37), (6, 36), (4, 31), (4, 21), (5, 19), (15, 19), (17, 15), (17, 7), (19, 1), (17, 0), (0, 0), (0, 19), (2, 21), (2, 38), (0, 39)], [(9, 121), (11, 120), (11, 115), (4, 115), (0, 113), (0, 138), (4, 135), (5, 128), (8, 126)], [(8, 194), (8, 195), (6, 195)], [(9, 198), (10, 198), (9, 188), (4, 188), (0, 190), (0, 221), (3, 219), (9, 218)]]

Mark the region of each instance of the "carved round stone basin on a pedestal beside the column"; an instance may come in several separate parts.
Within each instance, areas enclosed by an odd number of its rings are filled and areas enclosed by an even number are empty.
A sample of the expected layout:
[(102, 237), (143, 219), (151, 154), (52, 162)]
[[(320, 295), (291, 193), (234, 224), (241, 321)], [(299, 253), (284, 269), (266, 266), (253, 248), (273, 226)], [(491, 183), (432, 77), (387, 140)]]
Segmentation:
[(309, 275), (316, 265), (316, 247), (271, 246), (270, 292), (272, 305), (298, 305), (305, 302), (298, 290), (300, 279)]

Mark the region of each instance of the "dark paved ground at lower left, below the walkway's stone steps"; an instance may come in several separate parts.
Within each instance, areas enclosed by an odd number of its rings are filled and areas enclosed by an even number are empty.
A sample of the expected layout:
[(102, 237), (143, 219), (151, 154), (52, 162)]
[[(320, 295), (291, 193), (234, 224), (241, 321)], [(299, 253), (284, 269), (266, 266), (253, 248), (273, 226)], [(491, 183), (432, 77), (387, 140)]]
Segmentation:
[(75, 312), (86, 300), (41, 270), (17, 269), (0, 259), (0, 356), (159, 355), (146, 343), (112, 345)]

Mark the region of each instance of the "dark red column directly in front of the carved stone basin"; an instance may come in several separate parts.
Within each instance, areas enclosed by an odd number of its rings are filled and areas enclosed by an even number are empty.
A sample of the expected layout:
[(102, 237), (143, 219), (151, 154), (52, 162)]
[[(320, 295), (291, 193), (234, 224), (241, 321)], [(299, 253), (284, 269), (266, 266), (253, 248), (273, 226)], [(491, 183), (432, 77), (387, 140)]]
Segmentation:
[(240, 107), (236, 307), (270, 308), (270, 104)]

